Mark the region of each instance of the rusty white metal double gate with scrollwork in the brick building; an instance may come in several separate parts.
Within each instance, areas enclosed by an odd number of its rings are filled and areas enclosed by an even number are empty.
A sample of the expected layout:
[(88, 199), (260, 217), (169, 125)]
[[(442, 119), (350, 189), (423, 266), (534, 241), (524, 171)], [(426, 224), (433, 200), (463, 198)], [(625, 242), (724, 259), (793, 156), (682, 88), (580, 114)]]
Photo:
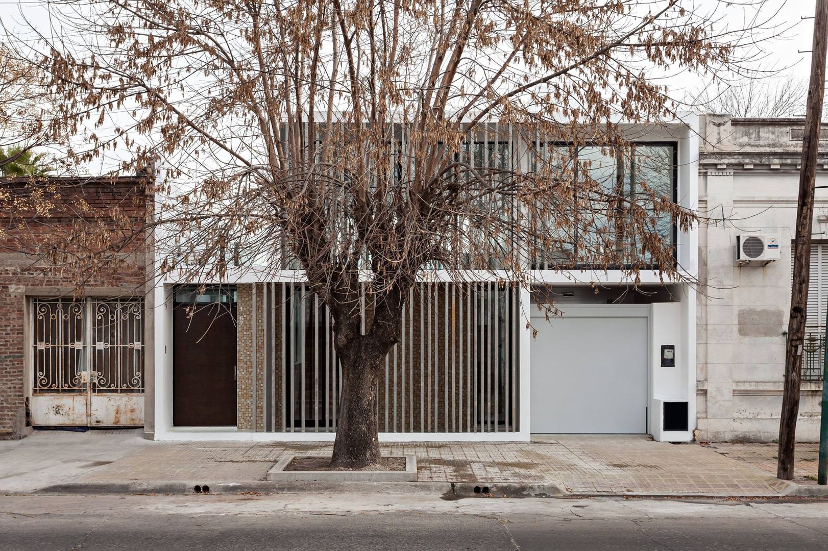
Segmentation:
[(32, 299), (31, 424), (138, 426), (141, 299)]

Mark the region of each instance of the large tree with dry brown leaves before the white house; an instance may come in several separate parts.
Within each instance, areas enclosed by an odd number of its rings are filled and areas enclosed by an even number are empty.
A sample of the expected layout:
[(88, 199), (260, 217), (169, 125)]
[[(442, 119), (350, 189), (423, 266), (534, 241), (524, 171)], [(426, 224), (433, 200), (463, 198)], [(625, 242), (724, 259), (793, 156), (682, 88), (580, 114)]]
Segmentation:
[[(657, 154), (622, 121), (675, 120), (651, 75), (738, 64), (760, 26), (715, 32), (676, 0), (50, 6), (58, 39), (17, 54), (61, 100), (68, 158), (126, 149), (124, 170), (170, 167), (161, 271), (221, 279), (238, 247), (274, 275), (301, 268), (330, 309), (341, 467), (378, 462), (378, 372), (428, 271), (529, 285), (543, 259), (686, 277), (670, 236), (695, 214), (656, 184)], [(600, 170), (607, 159), (652, 178), (631, 191)]]

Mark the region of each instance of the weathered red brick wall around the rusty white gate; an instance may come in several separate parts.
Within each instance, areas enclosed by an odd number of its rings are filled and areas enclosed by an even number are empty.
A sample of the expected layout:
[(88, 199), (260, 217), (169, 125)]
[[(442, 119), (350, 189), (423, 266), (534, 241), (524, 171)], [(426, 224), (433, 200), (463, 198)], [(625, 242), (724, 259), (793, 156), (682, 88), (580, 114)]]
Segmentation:
[[(89, 205), (99, 221), (111, 220), (108, 213), (123, 213), (132, 228), (140, 228), (145, 212), (145, 180), (142, 177), (111, 179), (49, 179), (42, 182), (3, 180), (4, 191), (26, 197), (32, 191), (46, 193), (55, 208), (46, 215), (0, 208), (0, 438), (19, 438), (26, 428), (25, 338), (30, 320), (26, 300), (31, 296), (71, 296), (76, 274), (60, 273), (39, 259), (33, 245), (60, 237), (79, 228), (78, 204)], [(9, 199), (6, 199), (9, 200)], [(79, 203), (80, 202), (80, 203)], [(113, 211), (113, 209), (116, 209)], [(9, 213), (14, 213), (14, 218)], [(137, 234), (140, 237), (140, 233)], [(89, 276), (79, 289), (89, 295), (132, 295), (143, 292), (144, 252), (140, 238), (123, 248), (117, 269), (106, 266), (99, 275)], [(123, 263), (121, 263), (123, 262)]]

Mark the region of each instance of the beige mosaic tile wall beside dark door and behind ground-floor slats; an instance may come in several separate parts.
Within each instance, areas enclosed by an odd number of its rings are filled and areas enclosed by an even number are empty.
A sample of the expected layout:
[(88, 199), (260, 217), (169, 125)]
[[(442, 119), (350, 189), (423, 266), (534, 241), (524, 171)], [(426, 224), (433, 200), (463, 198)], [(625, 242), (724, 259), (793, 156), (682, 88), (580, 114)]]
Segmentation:
[[(267, 288), (267, 303), (274, 304), (275, 309), (267, 315), (267, 328), (265, 327), (265, 302)], [(448, 292), (446, 290), (448, 289)], [(403, 350), (402, 343), (397, 345), (396, 350), (389, 354), (388, 371), (383, 369), (378, 379), (378, 428), (382, 432), (474, 432), (475, 430), (494, 430), (494, 407), (493, 407), (493, 383), (495, 381), (494, 370), (491, 369), (491, 357), (480, 357), (479, 370), (469, 368), (469, 360), (474, 359), (473, 341), (468, 330), (469, 322), (474, 323), (474, 315), (471, 314), (469, 305), (470, 299), (463, 294), (459, 288), (453, 293), (451, 285), (445, 284), (426, 285), (427, 292), (421, 296), (414, 293), (413, 319), (409, 319), (410, 310), (406, 311), (405, 320), (405, 342)], [(256, 290), (257, 305), (257, 376), (255, 377), (256, 391), (256, 425), (257, 430), (265, 430), (266, 420), (273, 421), (273, 427), (277, 431), (284, 430), (285, 417), (290, 417), (291, 397), (290, 388), (285, 389), (285, 396), (282, 395), (282, 371), (290, 372), (290, 366), (282, 366), (282, 363), (290, 363), (290, 360), (283, 358), (284, 343), (282, 335), (282, 284), (262, 285), (258, 284)], [(422, 304), (422, 305), (421, 305)], [(253, 429), (253, 330), (252, 323), (253, 309), (253, 286), (238, 285), (238, 428), (242, 430)], [(421, 315), (422, 309), (422, 315)], [(336, 374), (331, 373), (330, 360), (331, 352), (325, 352), (324, 338), (325, 317), (320, 315), (320, 357), (315, 357), (315, 347), (311, 339), (315, 333), (314, 324), (317, 322), (315, 316), (310, 314), (312, 309), (306, 310), (306, 335), (305, 345), (305, 405), (307, 429), (315, 431), (315, 407), (318, 400), (319, 421), (318, 430), (325, 431), (325, 427), (333, 426), (335, 417), (334, 396), (325, 392), (327, 386), (336, 386)], [(324, 310), (323, 310), (324, 311)], [(366, 312), (367, 323), (370, 323), (370, 309)], [(446, 317), (446, 314), (448, 316)], [(503, 314), (503, 313), (501, 313)], [(289, 315), (289, 314), (287, 314)], [(462, 330), (461, 330), (462, 319)], [(413, 323), (412, 323), (413, 322)], [(425, 341), (422, 338), (420, 325), (422, 322), (423, 333), (430, 336)], [(510, 337), (517, 337), (517, 325), (510, 327)], [(509, 324), (507, 323), (507, 327)], [(267, 329), (268, 338), (265, 338)], [(412, 330), (413, 329), (413, 330)], [(267, 348), (267, 340), (272, 342), (272, 347)], [(517, 343), (517, 339), (513, 341)], [(267, 355), (269, 354), (269, 358)], [(397, 365), (395, 369), (394, 359)], [(318, 365), (317, 362), (318, 361)], [(275, 389), (272, 407), (265, 408), (266, 400), (266, 365), (272, 362), (274, 369), (269, 376), (272, 377), (272, 387)], [(405, 369), (403, 369), (405, 362)], [(504, 371), (498, 379), (498, 410), (501, 414), (498, 423), (503, 429), (503, 413), (508, 418), (517, 414), (517, 357), (514, 357), (514, 371)], [(462, 367), (462, 369), (461, 369)], [(316, 383), (316, 370), (318, 371), (318, 383)], [(326, 372), (327, 371), (327, 372)], [(396, 376), (395, 376), (396, 371)], [(476, 372), (475, 372), (476, 371)], [(296, 374), (301, 370), (296, 368)], [(488, 373), (488, 377), (484, 374)], [(297, 377), (293, 412), (296, 417), (296, 429), (299, 428), (301, 419), (301, 384)], [(316, 385), (319, 385), (318, 387)], [(270, 385), (268, 385), (270, 386)], [(476, 399), (477, 393), (474, 387), (479, 386), (481, 391), (488, 390), (490, 399), (489, 407), (479, 403)], [(508, 389), (508, 396), (503, 391)], [(396, 390), (396, 391), (395, 391)], [(317, 398), (317, 394), (318, 398)], [(282, 400), (285, 400), (283, 413)], [(508, 400), (508, 403), (507, 403)], [(327, 404), (325, 403), (327, 402)], [(325, 406), (328, 407), (325, 407)], [(388, 413), (386, 413), (388, 412)], [(270, 419), (265, 419), (265, 415)], [(290, 423), (290, 419), (287, 419)]]

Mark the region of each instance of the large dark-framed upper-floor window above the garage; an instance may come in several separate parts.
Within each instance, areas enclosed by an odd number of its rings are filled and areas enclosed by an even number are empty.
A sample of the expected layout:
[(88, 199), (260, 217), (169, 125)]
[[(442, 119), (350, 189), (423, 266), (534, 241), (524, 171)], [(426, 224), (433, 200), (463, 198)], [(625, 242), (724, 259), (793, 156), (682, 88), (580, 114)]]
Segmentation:
[[(642, 240), (652, 235), (675, 248), (672, 215), (655, 208), (660, 199), (676, 201), (675, 143), (635, 143), (623, 149), (541, 144), (532, 170), (570, 182), (555, 212), (537, 213), (543, 219), (533, 247), (536, 269), (589, 269), (605, 259), (612, 259), (609, 267), (655, 267), (642, 247)], [(561, 217), (566, 217), (564, 223), (556, 219)]]

